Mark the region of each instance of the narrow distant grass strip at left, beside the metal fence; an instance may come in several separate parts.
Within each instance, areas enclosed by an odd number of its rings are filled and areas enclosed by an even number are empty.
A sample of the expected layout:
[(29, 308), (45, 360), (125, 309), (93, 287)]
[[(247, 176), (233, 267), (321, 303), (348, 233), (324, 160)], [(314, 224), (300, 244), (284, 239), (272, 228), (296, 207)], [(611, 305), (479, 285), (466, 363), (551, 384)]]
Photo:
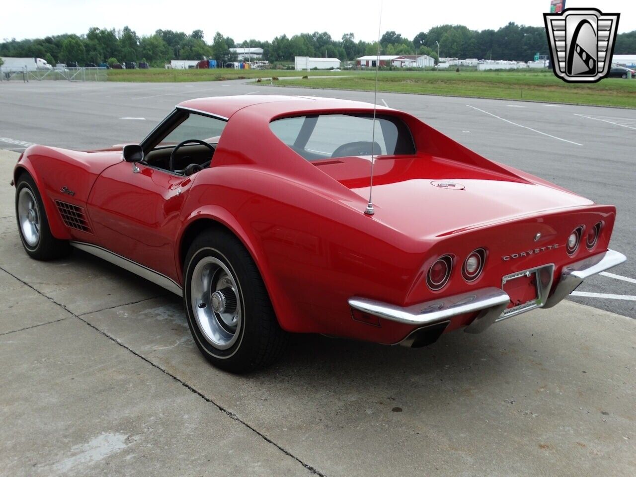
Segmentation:
[(108, 81), (132, 83), (181, 83), (186, 81), (222, 81), (223, 79), (271, 78), (272, 76), (324, 76), (350, 74), (345, 71), (294, 71), (289, 69), (109, 69)]

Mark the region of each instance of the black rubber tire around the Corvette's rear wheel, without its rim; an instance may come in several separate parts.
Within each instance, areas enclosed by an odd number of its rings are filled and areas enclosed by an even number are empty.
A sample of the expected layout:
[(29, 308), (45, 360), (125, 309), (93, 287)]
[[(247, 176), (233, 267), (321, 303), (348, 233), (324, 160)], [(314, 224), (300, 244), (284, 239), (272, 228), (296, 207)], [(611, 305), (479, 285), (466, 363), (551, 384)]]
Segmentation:
[[(197, 308), (205, 308), (200, 302), (204, 298), (200, 298), (198, 293), (207, 294), (209, 297), (212, 291), (218, 289), (214, 286), (214, 279), (211, 279), (211, 286), (200, 284), (200, 280), (197, 279), (197, 270), (212, 260), (222, 264), (214, 266), (217, 266), (216, 270), (226, 277), (226, 272), (219, 268), (225, 265), (232, 275), (233, 285), (238, 289), (235, 293), (235, 306), (240, 307), (237, 308), (240, 309), (240, 317), (234, 333), (228, 335), (232, 338), (225, 344), (225, 349), (206, 338), (193, 311), (193, 293), (194, 301), (199, 302)], [(193, 279), (195, 272), (197, 276)], [(232, 233), (225, 230), (205, 230), (200, 233), (186, 254), (183, 276), (183, 298), (188, 325), (198, 349), (210, 363), (232, 373), (245, 373), (268, 366), (280, 357), (287, 343), (287, 333), (279, 326), (256, 264), (244, 245)], [(221, 315), (214, 312), (212, 303), (209, 302), (209, 322), (212, 322), (212, 326), (225, 328), (219, 319)]]

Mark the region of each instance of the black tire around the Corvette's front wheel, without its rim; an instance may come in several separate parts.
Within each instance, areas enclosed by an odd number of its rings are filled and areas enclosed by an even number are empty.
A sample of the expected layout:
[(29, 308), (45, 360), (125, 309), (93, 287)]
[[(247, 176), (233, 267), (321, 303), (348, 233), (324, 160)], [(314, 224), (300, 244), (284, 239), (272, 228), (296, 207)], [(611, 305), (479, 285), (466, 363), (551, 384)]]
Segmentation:
[[(29, 244), (24, 237), (24, 232), (20, 225), (20, 215), (18, 213), (18, 199), (23, 189), (27, 189), (31, 193), (31, 196), (35, 199), (37, 206), (36, 210), (38, 212), (39, 235), (36, 243), (31, 244)], [(20, 232), (22, 246), (31, 258), (36, 260), (53, 260), (65, 257), (71, 253), (71, 245), (69, 245), (66, 240), (59, 240), (53, 237), (51, 228), (48, 225), (46, 209), (44, 208), (38, 187), (32, 177), (26, 172), (23, 172), (22, 175), (18, 177), (18, 182), (15, 186), (15, 216), (18, 222), (18, 232)]]

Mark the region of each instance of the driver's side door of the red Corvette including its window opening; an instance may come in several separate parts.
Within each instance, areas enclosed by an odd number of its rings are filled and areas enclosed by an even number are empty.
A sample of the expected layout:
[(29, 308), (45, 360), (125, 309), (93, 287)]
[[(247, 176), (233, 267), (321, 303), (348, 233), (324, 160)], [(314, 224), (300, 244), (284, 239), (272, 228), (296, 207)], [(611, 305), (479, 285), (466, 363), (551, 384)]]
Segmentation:
[(104, 170), (88, 197), (97, 244), (177, 280), (179, 217), (197, 176), (189, 167), (209, 167), (226, 121), (177, 107), (142, 141), (142, 162)]

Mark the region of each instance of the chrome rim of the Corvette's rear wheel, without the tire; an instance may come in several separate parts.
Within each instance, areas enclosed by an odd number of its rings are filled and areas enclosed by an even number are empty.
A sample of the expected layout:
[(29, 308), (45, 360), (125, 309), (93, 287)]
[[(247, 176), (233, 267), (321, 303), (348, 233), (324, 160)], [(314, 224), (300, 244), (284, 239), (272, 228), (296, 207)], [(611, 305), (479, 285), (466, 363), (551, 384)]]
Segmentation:
[(225, 263), (211, 256), (197, 263), (190, 300), (205, 340), (217, 349), (231, 347), (240, 334), (242, 310), (239, 287)]

